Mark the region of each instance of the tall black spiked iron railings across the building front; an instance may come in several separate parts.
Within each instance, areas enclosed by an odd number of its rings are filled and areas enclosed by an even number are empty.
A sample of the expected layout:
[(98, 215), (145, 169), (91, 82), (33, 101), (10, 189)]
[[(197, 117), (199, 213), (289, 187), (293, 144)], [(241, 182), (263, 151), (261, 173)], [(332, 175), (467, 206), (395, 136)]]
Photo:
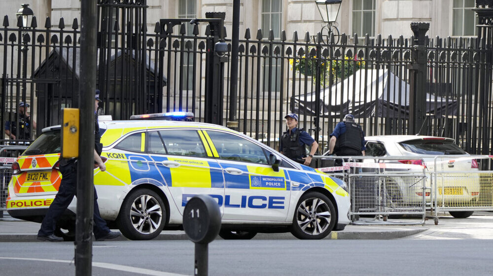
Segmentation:
[[(122, 8), (107, 8), (115, 7)], [(101, 27), (100, 38), (106, 40), (100, 41), (104, 50), (98, 57), (102, 107), (115, 119), (191, 111), (197, 121), (208, 121), (207, 93), (219, 93), (220, 101), (212, 103), (222, 113), (218, 123), (232, 119), (229, 109), (235, 104), (239, 131), (272, 147), (277, 147), (288, 112), (300, 115), (300, 127), (321, 147), (335, 124), (352, 113), (367, 136), (444, 136), (455, 138), (470, 153), (492, 152), (491, 25), (479, 26), (478, 38), (428, 38), (427, 27), (415, 25), (411, 38), (343, 34), (338, 44), (314, 41), (308, 33), (300, 39), (295, 32), (288, 40), (285, 32), (274, 37), (273, 32), (252, 34), (247, 29), (239, 46), (237, 102), (230, 103), (229, 52), (216, 60), (217, 70), (224, 71), (213, 76), (218, 86), (211, 87), (221, 91), (207, 90), (210, 69), (215, 68), (208, 66), (208, 54), (214, 51), (209, 42), (217, 36), (210, 25), (195, 24), (189, 34), (188, 20), (177, 24), (162, 19), (147, 31), (128, 17), (139, 21), (145, 18), (142, 12), (126, 13), (125, 19), (121, 12), (116, 14), (112, 24), (102, 21), (106, 27)], [(138, 38), (142, 32), (145, 40)], [(11, 28), (4, 18), (2, 129), (21, 101), (34, 107), (38, 133), (59, 123), (62, 107), (77, 105), (78, 34), (76, 20), (71, 28), (63, 20), (51, 28), (48, 19), (41, 30)], [(225, 41), (230, 43), (227, 35)]]

